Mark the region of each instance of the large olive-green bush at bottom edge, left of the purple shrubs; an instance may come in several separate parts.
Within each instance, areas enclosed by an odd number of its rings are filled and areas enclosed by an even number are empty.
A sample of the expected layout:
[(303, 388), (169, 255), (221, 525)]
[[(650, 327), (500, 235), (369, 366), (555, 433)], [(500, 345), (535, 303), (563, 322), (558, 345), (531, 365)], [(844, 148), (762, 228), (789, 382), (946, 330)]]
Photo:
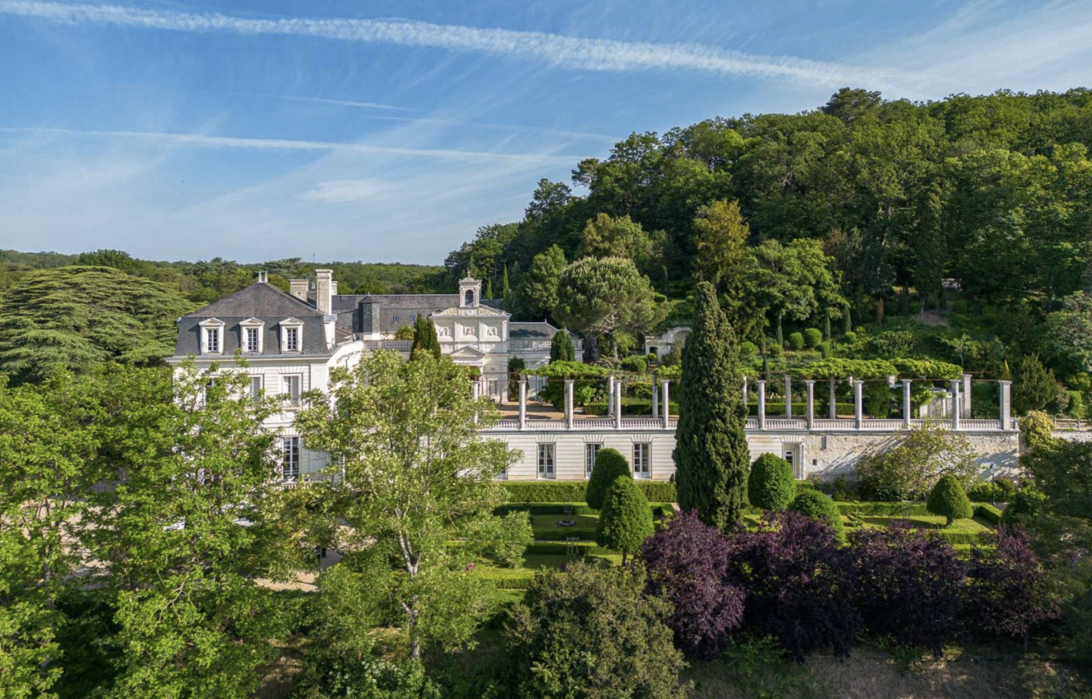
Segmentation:
[(503, 696), (684, 699), (682, 653), (665, 624), (670, 603), (644, 588), (640, 568), (577, 561), (563, 573), (538, 571), (526, 604), (510, 613), (511, 674)]

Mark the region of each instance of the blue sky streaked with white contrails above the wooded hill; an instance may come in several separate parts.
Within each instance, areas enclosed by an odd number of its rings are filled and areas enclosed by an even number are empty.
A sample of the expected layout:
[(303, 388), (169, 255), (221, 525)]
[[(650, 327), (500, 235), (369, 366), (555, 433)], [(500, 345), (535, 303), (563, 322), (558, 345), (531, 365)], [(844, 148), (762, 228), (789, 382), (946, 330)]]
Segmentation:
[(631, 131), (1092, 86), (1088, 0), (0, 0), (0, 248), (439, 263)]

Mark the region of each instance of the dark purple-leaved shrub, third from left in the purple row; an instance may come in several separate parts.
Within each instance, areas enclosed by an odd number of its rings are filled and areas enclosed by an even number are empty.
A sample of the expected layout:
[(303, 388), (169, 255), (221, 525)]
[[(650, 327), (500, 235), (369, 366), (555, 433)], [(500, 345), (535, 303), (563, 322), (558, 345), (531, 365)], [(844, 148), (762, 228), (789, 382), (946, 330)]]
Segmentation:
[(907, 522), (850, 534), (856, 606), (880, 641), (939, 657), (962, 632), (965, 568), (952, 545)]

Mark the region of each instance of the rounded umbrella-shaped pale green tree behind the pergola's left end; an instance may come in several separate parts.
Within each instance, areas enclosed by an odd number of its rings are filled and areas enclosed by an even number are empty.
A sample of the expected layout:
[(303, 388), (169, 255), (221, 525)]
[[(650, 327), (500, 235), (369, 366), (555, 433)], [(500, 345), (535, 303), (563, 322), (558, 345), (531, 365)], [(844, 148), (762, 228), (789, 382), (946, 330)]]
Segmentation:
[[(643, 332), (658, 317), (649, 277), (624, 258), (573, 262), (558, 280), (557, 297), (554, 318), (584, 335)], [(618, 358), (617, 343), (614, 356)]]

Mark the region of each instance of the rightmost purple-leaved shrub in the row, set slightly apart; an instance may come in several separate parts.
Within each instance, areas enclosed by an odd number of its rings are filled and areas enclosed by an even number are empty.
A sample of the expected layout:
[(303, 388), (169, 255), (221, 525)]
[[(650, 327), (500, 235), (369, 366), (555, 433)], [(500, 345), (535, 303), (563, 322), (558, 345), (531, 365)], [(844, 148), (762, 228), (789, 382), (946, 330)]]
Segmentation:
[(1058, 616), (1038, 556), (1022, 529), (1000, 526), (971, 549), (969, 612), (983, 629), (1023, 639), (1036, 625)]

